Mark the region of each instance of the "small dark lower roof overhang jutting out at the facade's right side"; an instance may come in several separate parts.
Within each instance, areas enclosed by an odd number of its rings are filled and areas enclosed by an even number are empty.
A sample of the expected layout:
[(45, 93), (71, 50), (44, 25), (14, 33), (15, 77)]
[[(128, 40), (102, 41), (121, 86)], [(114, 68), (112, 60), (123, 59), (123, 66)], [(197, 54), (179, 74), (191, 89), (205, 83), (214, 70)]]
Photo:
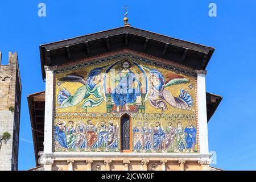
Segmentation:
[(207, 120), (209, 122), (223, 97), (207, 92)]

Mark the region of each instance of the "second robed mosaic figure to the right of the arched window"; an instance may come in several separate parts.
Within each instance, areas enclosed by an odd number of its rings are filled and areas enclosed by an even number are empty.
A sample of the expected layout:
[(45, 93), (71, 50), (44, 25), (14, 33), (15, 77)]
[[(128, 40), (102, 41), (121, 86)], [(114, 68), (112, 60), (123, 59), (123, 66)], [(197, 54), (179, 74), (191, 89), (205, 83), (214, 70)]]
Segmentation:
[[(152, 123), (150, 123), (151, 125)], [(144, 122), (142, 126), (142, 151), (146, 152), (146, 150), (152, 150), (152, 130), (150, 129), (150, 125), (148, 126), (147, 122)]]

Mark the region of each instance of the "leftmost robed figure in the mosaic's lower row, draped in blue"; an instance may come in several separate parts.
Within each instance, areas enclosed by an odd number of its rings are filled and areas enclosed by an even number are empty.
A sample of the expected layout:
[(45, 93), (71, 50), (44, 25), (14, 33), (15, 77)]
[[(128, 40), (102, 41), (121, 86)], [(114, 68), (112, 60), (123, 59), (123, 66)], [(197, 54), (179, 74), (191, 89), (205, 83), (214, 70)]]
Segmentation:
[(68, 151), (68, 145), (67, 145), (67, 138), (65, 134), (65, 121), (58, 120), (56, 122), (56, 125), (54, 127), (55, 129), (55, 147), (60, 145), (61, 147), (64, 147), (65, 151)]

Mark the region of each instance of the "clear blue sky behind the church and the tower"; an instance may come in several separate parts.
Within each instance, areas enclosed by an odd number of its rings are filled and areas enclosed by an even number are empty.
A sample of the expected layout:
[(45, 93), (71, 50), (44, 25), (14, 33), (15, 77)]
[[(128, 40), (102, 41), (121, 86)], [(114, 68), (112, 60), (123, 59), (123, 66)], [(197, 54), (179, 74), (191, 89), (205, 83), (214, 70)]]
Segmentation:
[[(38, 16), (46, 3), (47, 16)], [(217, 17), (208, 5), (217, 5)], [(256, 2), (255, 0), (0, 2), (0, 51), (17, 51), (22, 78), (19, 170), (35, 167), (27, 95), (45, 90), (39, 45), (123, 26), (127, 5), (131, 26), (216, 48), (207, 70), (207, 92), (224, 97), (208, 124), (215, 167), (256, 170)]]

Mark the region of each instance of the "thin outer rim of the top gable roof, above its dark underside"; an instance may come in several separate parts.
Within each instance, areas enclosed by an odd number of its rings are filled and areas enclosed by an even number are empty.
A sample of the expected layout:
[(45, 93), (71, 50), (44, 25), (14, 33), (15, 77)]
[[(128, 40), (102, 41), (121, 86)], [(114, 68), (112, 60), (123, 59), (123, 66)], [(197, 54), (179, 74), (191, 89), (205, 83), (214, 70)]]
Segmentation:
[[(172, 37), (166, 36), (166, 35), (156, 34), (155, 32), (150, 32), (150, 31), (139, 29), (139, 28), (119, 27), (119, 28), (114, 28), (111, 30), (96, 32), (94, 34), (77, 36), (76, 38), (71, 38), (71, 39), (61, 40), (58, 42), (40, 45), (40, 60), (41, 60), (43, 79), (46, 76), (44, 73), (44, 65), (51, 65), (51, 64), (47, 63), (48, 60), (46, 61), (46, 59), (47, 59), (46, 52), (48, 52), (51, 55), (50, 51), (53, 51), (55, 49), (61, 49), (61, 48), (69, 47), (69, 46), (74, 46), (77, 44), (83, 44), (85, 42), (91, 42), (91, 41), (94, 41), (97, 39), (103, 40), (106, 37), (118, 36), (118, 35), (123, 35), (123, 34), (139, 36), (141, 38), (151, 39), (151, 40), (154, 40), (154, 41), (162, 43), (162, 44), (167, 44), (167, 45), (171, 45), (174, 47), (190, 49), (191, 51), (204, 53), (205, 57), (203, 58), (203, 61), (202, 61), (203, 64), (200, 65), (200, 69), (205, 69), (207, 67), (210, 57), (212, 57), (212, 54), (214, 52), (213, 47), (207, 47), (207, 46), (203, 46), (201, 44), (187, 42), (184, 40), (172, 38)], [(145, 53), (148, 53), (148, 52), (145, 52)], [(148, 53), (148, 54), (150, 54), (150, 53)]]

